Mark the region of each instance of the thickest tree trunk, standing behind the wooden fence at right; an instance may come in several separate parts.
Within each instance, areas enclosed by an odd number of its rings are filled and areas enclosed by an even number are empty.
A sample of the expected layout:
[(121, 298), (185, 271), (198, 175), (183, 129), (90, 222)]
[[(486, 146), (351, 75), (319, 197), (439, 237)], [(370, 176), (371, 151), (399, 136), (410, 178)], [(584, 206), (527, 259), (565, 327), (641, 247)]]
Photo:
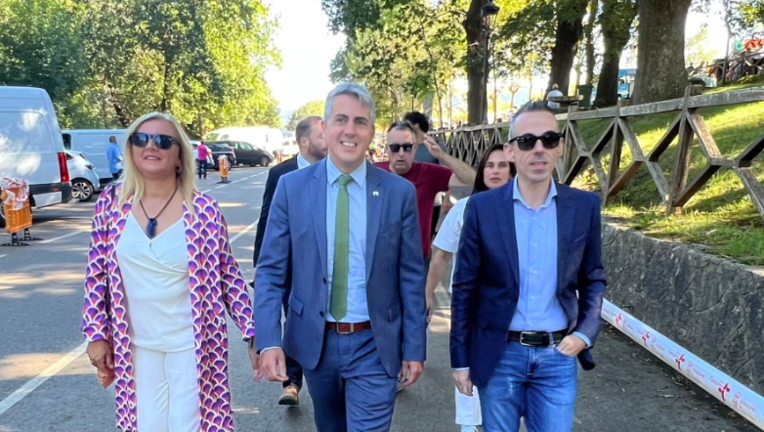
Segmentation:
[(639, 0), (634, 103), (679, 98), (687, 87), (684, 31), (692, 0)]

